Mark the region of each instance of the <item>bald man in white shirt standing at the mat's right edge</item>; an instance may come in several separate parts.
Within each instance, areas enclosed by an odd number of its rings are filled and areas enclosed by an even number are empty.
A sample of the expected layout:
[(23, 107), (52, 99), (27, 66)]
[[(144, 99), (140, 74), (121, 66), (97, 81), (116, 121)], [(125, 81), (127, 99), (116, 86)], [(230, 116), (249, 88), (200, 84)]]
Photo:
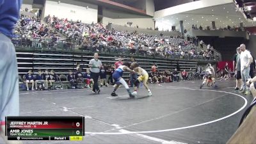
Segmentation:
[(246, 95), (250, 95), (250, 91), (248, 86), (246, 86), (247, 79), (250, 78), (250, 64), (252, 63), (252, 55), (249, 51), (246, 50), (246, 46), (244, 44), (240, 45), (241, 54), (240, 54), (240, 61), (241, 61), (241, 76), (243, 81), (243, 90), (241, 93)]

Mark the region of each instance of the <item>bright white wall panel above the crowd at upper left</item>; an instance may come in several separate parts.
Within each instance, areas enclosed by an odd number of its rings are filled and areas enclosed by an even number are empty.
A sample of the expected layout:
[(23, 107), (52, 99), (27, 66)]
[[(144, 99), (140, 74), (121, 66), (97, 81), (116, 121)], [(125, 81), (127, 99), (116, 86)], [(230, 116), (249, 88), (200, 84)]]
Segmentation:
[[(88, 6), (88, 8), (87, 8)], [(44, 15), (55, 15), (68, 20), (82, 20), (84, 23), (97, 22), (98, 6), (79, 1), (51, 0), (45, 2)]]

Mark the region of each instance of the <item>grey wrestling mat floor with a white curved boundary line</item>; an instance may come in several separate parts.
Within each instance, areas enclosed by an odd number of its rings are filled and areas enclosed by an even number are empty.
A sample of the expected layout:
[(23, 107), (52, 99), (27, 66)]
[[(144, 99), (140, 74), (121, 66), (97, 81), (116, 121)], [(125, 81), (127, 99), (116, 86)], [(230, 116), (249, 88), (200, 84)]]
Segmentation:
[(153, 96), (140, 88), (136, 99), (127, 99), (124, 88), (110, 97), (112, 86), (100, 95), (91, 89), (20, 92), (21, 116), (86, 116), (86, 132), (101, 132), (84, 141), (24, 143), (225, 143), (252, 96), (240, 97), (234, 81), (202, 90), (200, 83), (150, 84)]

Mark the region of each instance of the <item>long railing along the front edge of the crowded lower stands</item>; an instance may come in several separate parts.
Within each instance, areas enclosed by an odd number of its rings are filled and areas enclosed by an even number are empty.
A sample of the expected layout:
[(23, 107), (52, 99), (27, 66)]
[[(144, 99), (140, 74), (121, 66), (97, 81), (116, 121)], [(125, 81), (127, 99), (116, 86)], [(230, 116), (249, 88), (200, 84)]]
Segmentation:
[(69, 52), (99, 52), (109, 55), (123, 55), (123, 56), (142, 56), (148, 58), (161, 58), (170, 60), (191, 60), (191, 61), (220, 61), (221, 57), (202, 55), (184, 54), (181, 56), (179, 52), (170, 54), (165, 51), (156, 51), (155, 49), (139, 50), (128, 49), (124, 46), (116, 45), (80, 45), (76, 41), (54, 40), (52, 38), (13, 38), (13, 45), (17, 49), (33, 49), (40, 51), (69, 51)]

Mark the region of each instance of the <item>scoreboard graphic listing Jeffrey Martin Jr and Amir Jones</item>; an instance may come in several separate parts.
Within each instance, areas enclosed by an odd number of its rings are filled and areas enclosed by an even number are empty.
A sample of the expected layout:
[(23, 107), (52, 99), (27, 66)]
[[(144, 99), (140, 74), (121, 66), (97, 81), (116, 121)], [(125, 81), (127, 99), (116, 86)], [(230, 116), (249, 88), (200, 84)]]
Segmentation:
[(71, 140), (84, 136), (84, 116), (6, 116), (8, 140)]

